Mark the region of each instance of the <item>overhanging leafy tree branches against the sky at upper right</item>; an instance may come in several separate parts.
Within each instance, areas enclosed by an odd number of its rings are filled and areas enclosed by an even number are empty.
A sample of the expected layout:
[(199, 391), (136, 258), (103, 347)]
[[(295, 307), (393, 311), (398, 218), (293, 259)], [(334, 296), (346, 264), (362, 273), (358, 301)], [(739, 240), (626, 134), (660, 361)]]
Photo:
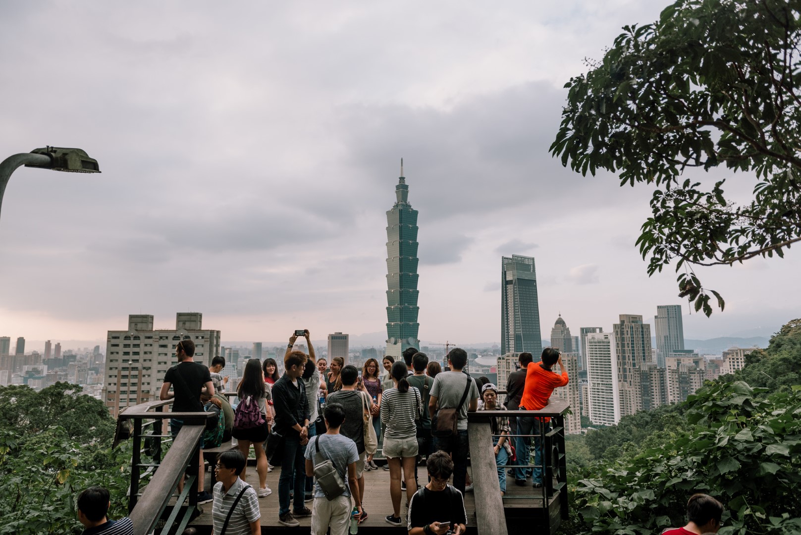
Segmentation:
[[(582, 175), (654, 187), (637, 244), (648, 274), (675, 260), (680, 297), (710, 316), (698, 266), (782, 257), (801, 240), (801, 2), (678, 0), (625, 26), (601, 62), (570, 78), (553, 155)], [(686, 179), (687, 167), (756, 175), (750, 203)]]

